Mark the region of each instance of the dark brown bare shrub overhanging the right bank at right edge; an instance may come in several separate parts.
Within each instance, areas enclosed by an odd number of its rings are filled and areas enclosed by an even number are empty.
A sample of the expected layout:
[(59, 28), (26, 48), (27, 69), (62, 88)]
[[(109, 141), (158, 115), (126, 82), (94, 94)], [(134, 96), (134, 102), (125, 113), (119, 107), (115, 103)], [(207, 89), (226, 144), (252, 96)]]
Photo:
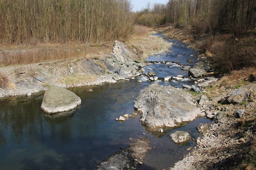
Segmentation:
[(221, 73), (230, 73), (243, 67), (256, 66), (255, 42), (250, 37), (237, 37), (233, 35), (218, 35), (209, 46), (213, 54), (212, 62), (214, 69)]

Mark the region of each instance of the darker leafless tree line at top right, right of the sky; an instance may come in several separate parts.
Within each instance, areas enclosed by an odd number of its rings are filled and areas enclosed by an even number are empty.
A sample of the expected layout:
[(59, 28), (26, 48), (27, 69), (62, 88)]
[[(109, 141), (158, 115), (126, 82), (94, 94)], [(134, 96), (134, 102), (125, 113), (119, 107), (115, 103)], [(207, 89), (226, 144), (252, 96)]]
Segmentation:
[[(161, 18), (159, 19), (159, 13)], [(147, 18), (147, 19), (146, 19)], [(155, 23), (152, 23), (152, 20)], [(255, 28), (255, 0), (169, 0), (137, 12), (137, 22), (144, 25), (193, 25), (199, 29)]]

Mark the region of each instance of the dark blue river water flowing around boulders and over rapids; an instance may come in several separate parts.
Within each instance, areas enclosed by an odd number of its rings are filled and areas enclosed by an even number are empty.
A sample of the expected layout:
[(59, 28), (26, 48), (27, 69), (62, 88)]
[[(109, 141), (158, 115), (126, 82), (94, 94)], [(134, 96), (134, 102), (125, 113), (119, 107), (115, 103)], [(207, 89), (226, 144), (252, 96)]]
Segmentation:
[[(161, 35), (158, 35), (161, 36)], [(197, 62), (196, 51), (177, 40), (171, 52), (148, 57), (150, 61), (166, 61), (166, 64), (154, 62), (150, 67), (159, 78), (168, 75), (188, 76), (189, 67)], [(191, 63), (187, 62), (191, 59)], [(142, 80), (142, 82), (138, 82)], [(185, 146), (177, 146), (168, 138), (168, 134), (177, 129), (167, 129), (164, 133), (148, 131), (139, 117), (125, 122), (115, 121), (121, 114), (134, 111), (134, 99), (139, 92), (151, 83), (164, 86), (193, 84), (185, 78), (181, 81), (150, 82), (146, 76), (138, 76), (129, 82), (103, 84), (98, 87), (73, 88), (82, 104), (66, 117), (51, 118), (40, 109), (43, 95), (35, 97), (10, 97), (0, 103), (0, 165), (1, 169), (96, 169), (96, 162), (126, 147), (130, 138), (149, 137), (152, 150), (148, 152), (142, 169), (166, 169), (187, 154), (187, 148), (196, 145), (192, 140)], [(93, 92), (88, 89), (92, 88)], [(192, 138), (199, 137), (196, 126), (209, 123), (205, 118), (197, 118), (185, 123), (179, 130), (189, 131)]]

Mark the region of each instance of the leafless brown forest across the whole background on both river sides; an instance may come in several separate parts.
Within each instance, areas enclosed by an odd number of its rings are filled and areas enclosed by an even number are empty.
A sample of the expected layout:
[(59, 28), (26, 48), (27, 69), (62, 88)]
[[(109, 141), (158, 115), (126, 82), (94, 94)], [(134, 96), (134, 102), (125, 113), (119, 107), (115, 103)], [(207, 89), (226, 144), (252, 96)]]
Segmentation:
[[(0, 44), (30, 48), (47, 42), (103, 44), (131, 38), (135, 25), (175, 25), (193, 39), (203, 35), (196, 48), (209, 54), (216, 70), (226, 73), (256, 66), (255, 0), (169, 0), (148, 3), (137, 12), (132, 8), (130, 0), (0, 0)], [(5, 53), (2, 66), (65, 59), (68, 53), (82, 55), (74, 45), (68, 52), (52, 46), (18, 56)]]

